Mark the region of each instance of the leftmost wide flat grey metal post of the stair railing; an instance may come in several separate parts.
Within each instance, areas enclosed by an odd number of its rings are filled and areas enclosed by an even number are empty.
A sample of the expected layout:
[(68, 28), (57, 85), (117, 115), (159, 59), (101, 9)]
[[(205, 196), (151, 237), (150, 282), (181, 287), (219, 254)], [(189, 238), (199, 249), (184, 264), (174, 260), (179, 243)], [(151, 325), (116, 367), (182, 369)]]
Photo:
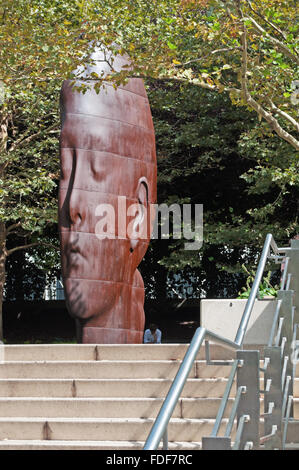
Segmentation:
[(243, 360), (243, 366), (237, 369), (237, 389), (246, 387), (246, 393), (241, 395), (238, 406), (238, 422), (242, 417), (250, 416), (244, 424), (239, 448), (244, 449), (246, 442), (251, 441), (253, 448), (257, 449), (260, 436), (260, 352), (239, 350), (237, 359)]

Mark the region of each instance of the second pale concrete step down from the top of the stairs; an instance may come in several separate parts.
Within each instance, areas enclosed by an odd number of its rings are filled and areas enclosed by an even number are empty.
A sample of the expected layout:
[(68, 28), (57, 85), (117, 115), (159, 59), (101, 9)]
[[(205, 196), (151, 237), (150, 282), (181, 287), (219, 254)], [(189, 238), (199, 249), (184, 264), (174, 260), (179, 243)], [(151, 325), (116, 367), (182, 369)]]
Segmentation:
[[(0, 378), (173, 378), (178, 360), (160, 361), (9, 361), (0, 364)], [(195, 361), (190, 378), (227, 377), (229, 366)]]

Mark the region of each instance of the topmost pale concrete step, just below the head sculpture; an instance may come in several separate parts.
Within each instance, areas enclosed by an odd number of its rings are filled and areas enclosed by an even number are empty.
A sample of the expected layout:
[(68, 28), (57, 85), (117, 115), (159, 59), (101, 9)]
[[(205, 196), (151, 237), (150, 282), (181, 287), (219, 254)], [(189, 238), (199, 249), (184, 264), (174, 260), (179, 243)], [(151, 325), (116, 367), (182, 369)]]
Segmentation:
[[(17, 344), (4, 345), (6, 361), (116, 361), (182, 360), (188, 344)], [(3, 346), (2, 346), (3, 347)], [(235, 353), (217, 344), (210, 345), (212, 359), (233, 359)], [(205, 359), (201, 347), (198, 359)]]

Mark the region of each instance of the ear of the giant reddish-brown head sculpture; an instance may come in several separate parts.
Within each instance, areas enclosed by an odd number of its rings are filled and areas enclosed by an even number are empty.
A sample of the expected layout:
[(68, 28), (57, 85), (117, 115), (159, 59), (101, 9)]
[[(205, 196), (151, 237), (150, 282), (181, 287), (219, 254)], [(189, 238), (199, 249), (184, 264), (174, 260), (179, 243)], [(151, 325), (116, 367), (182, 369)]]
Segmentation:
[(148, 209), (149, 209), (149, 197), (148, 197), (149, 185), (148, 181), (143, 176), (138, 181), (136, 198), (138, 203), (136, 204), (134, 220), (132, 224), (132, 236), (130, 237), (131, 251), (133, 251), (140, 239), (147, 240), (148, 233)]

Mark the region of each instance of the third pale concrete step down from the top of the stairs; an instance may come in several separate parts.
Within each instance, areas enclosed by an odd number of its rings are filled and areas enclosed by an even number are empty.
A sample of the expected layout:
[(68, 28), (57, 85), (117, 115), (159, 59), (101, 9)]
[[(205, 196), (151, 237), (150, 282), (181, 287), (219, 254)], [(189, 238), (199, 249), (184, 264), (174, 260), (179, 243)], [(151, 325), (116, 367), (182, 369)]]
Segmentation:
[[(171, 379), (0, 379), (1, 397), (165, 397)], [(227, 379), (188, 379), (182, 397), (222, 397)], [(233, 390), (235, 386), (233, 385)], [(233, 392), (232, 390), (232, 392)]]

